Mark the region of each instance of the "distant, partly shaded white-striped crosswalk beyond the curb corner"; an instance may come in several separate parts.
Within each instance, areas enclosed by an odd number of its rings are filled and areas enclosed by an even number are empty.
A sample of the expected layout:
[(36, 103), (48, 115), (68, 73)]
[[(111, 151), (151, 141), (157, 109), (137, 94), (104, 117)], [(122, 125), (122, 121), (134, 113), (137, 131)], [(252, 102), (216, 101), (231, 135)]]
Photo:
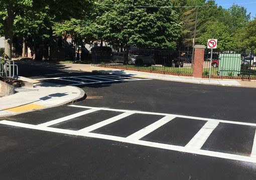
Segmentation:
[(151, 80), (135, 78), (132, 76), (124, 75), (97, 75), (97, 76), (66, 76), (66, 77), (53, 77), (53, 78), (41, 78), (35, 79), (38, 81), (53, 82), (57, 84), (67, 84), (69, 86), (79, 86), (79, 85), (90, 85), (99, 83), (113, 83), (122, 81), (141, 81), (141, 80)]

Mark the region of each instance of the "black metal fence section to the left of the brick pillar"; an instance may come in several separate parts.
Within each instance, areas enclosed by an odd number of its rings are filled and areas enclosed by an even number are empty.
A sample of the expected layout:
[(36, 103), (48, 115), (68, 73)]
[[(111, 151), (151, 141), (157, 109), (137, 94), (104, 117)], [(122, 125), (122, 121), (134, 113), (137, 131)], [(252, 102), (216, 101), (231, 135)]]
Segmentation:
[(93, 47), (92, 65), (144, 72), (192, 76), (192, 50)]

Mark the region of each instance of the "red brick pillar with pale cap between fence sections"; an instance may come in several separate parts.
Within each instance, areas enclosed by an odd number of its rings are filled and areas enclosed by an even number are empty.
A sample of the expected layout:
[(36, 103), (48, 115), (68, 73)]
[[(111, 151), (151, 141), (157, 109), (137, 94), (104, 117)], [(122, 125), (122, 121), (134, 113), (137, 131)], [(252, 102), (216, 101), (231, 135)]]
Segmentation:
[(193, 77), (202, 78), (203, 77), (203, 64), (204, 64), (204, 51), (205, 46), (195, 45), (195, 54), (193, 62)]

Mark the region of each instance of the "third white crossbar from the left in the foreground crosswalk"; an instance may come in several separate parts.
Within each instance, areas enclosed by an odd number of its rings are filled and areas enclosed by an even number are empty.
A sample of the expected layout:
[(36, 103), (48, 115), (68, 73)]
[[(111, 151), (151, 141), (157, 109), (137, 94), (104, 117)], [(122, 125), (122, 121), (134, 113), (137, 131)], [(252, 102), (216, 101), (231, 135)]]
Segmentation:
[(148, 135), (149, 133), (153, 132), (154, 130), (158, 129), (159, 127), (163, 126), (167, 122), (173, 120), (175, 116), (165, 116), (162, 119), (154, 122), (153, 124), (148, 125), (147, 127), (131, 134), (130, 136), (126, 137), (127, 139), (131, 140), (139, 140), (144, 136)]

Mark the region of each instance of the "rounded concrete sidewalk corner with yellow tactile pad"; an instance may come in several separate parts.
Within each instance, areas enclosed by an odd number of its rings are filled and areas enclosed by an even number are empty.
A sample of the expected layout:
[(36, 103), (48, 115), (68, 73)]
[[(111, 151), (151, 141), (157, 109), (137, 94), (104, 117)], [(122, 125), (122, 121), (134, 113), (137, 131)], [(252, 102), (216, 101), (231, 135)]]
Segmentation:
[(0, 117), (68, 104), (85, 99), (82, 89), (50, 83), (36, 83), (34, 88), (16, 88), (17, 93), (0, 98)]

